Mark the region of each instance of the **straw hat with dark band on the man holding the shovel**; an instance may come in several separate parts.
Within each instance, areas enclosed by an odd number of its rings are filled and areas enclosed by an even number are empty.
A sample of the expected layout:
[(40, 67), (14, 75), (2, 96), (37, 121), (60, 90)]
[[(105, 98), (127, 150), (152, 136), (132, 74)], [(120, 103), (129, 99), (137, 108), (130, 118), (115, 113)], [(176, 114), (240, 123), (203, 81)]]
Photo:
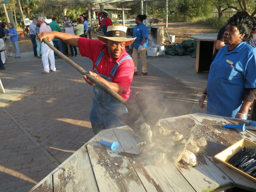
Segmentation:
[(127, 38), (127, 27), (125, 26), (108, 26), (106, 37), (97, 36), (102, 42), (106, 43), (106, 39), (117, 41), (117, 42), (125, 42), (125, 46), (130, 45), (134, 42), (135, 38)]

